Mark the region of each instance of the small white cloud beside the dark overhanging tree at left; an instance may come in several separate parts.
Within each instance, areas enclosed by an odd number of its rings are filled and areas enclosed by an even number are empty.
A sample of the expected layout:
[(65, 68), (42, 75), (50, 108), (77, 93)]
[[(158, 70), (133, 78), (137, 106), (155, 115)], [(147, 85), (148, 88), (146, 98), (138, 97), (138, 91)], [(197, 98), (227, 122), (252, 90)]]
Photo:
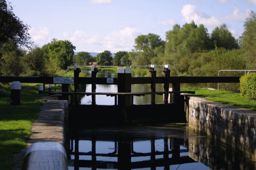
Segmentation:
[(48, 35), (50, 34), (50, 29), (47, 27), (40, 27), (38, 30), (34, 27), (31, 28), (28, 33), (32, 37), (33, 41), (42, 41), (48, 38)]

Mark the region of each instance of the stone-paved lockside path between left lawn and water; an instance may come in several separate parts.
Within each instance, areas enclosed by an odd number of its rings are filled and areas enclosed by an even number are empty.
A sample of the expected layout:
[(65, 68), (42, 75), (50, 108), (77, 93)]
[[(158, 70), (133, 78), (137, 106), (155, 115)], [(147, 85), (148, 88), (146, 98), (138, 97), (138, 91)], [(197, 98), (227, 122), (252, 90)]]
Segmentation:
[(14, 154), (16, 166), (13, 170), (21, 170), (26, 150), (36, 142), (58, 142), (64, 145), (64, 118), (68, 108), (67, 100), (58, 100), (58, 97), (45, 97), (38, 118), (32, 123), (32, 135), (27, 141), (26, 148), (19, 154)]

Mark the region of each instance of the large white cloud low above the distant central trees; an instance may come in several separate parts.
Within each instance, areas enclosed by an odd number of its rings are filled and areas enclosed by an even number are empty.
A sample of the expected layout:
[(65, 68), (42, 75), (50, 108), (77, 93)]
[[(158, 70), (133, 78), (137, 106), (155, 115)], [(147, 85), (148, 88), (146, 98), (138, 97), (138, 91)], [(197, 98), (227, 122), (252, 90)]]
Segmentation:
[(104, 48), (112, 53), (118, 51), (130, 51), (134, 45), (134, 39), (138, 37), (139, 31), (132, 27), (126, 27), (120, 31), (110, 33), (104, 38)]

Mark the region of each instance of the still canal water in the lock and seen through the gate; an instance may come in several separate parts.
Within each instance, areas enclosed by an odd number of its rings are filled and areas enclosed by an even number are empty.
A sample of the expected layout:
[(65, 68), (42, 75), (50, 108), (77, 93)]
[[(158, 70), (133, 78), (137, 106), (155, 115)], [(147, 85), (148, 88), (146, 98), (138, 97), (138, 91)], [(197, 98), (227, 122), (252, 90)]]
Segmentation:
[[(101, 77), (117, 77), (98, 73)], [(163, 85), (157, 84), (156, 91)], [(86, 85), (86, 92), (91, 86)], [(97, 85), (96, 92), (117, 92), (116, 85)], [(150, 92), (150, 84), (132, 85)], [(150, 104), (150, 96), (134, 96), (134, 104)], [(84, 96), (81, 104), (90, 104)], [(156, 95), (156, 103), (163, 96)], [(96, 96), (98, 105), (114, 105), (114, 97)], [(236, 150), (190, 130), (186, 125), (95, 126), (73, 129), (68, 141), (69, 170), (255, 170), (256, 162)]]

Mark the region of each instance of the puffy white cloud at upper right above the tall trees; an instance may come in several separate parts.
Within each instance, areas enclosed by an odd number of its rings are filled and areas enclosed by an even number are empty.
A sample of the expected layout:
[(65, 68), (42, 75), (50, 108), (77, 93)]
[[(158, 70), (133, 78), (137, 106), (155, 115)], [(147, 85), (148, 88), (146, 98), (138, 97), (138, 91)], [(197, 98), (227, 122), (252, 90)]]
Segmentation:
[(196, 24), (204, 24), (204, 26), (216, 27), (221, 24), (221, 21), (213, 16), (208, 16), (204, 12), (196, 11), (196, 6), (187, 4), (184, 5), (181, 14), (185, 22), (190, 23), (192, 20)]

